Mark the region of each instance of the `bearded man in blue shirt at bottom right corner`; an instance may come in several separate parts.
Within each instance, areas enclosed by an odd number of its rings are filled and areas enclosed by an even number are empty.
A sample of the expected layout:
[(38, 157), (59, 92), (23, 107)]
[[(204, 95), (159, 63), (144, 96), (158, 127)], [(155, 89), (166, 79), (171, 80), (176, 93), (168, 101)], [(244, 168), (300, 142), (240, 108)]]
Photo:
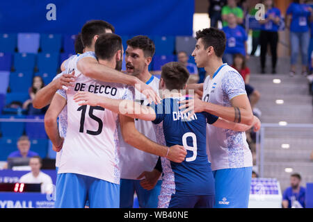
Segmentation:
[(300, 187), (301, 176), (294, 173), (290, 176), (290, 185), (282, 195), (283, 208), (304, 208), (305, 207), (305, 187)]

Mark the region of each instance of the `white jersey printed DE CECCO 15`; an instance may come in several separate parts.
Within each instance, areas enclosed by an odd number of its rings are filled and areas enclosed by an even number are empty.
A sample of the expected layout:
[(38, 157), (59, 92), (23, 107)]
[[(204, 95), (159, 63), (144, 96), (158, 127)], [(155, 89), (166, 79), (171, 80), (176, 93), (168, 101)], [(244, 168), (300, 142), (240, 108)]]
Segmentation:
[(75, 71), (77, 79), (66, 92), (67, 134), (58, 173), (77, 173), (119, 184), (118, 114), (99, 106), (79, 105), (73, 96), (86, 91), (110, 99), (132, 99), (133, 94), (125, 85), (104, 83), (81, 74), (77, 62), (85, 57), (95, 58), (95, 53), (83, 53), (67, 67), (68, 73)]

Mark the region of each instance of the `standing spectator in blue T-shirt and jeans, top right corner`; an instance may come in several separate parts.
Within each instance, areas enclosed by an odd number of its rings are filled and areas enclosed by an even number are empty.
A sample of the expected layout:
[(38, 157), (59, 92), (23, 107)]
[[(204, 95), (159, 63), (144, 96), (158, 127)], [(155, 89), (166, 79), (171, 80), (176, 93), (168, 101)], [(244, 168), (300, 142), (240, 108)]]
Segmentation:
[(290, 75), (296, 74), (298, 52), (301, 52), (302, 74), (307, 75), (307, 53), (310, 44), (310, 20), (312, 8), (305, 0), (294, 0), (287, 8), (287, 28), (290, 29), (291, 70)]

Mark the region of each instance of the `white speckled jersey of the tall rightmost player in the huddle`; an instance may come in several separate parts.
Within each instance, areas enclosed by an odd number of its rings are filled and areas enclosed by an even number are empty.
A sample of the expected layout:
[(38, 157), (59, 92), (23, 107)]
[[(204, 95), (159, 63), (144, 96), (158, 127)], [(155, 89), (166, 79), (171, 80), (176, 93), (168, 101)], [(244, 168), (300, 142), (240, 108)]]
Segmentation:
[[(207, 76), (203, 85), (202, 100), (230, 107), (230, 100), (246, 94), (241, 75), (227, 64), (222, 65), (213, 78)], [(213, 171), (252, 167), (252, 153), (246, 133), (207, 125), (207, 153)]]

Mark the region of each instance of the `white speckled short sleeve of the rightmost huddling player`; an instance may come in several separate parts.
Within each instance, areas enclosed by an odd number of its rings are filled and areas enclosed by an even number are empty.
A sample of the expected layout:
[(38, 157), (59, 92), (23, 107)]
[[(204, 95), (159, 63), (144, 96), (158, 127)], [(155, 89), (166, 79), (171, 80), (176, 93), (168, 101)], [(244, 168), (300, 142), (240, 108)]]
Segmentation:
[(222, 80), (223, 93), (228, 96), (228, 99), (233, 99), (235, 96), (246, 95), (245, 82), (242, 76), (236, 71), (228, 71)]

